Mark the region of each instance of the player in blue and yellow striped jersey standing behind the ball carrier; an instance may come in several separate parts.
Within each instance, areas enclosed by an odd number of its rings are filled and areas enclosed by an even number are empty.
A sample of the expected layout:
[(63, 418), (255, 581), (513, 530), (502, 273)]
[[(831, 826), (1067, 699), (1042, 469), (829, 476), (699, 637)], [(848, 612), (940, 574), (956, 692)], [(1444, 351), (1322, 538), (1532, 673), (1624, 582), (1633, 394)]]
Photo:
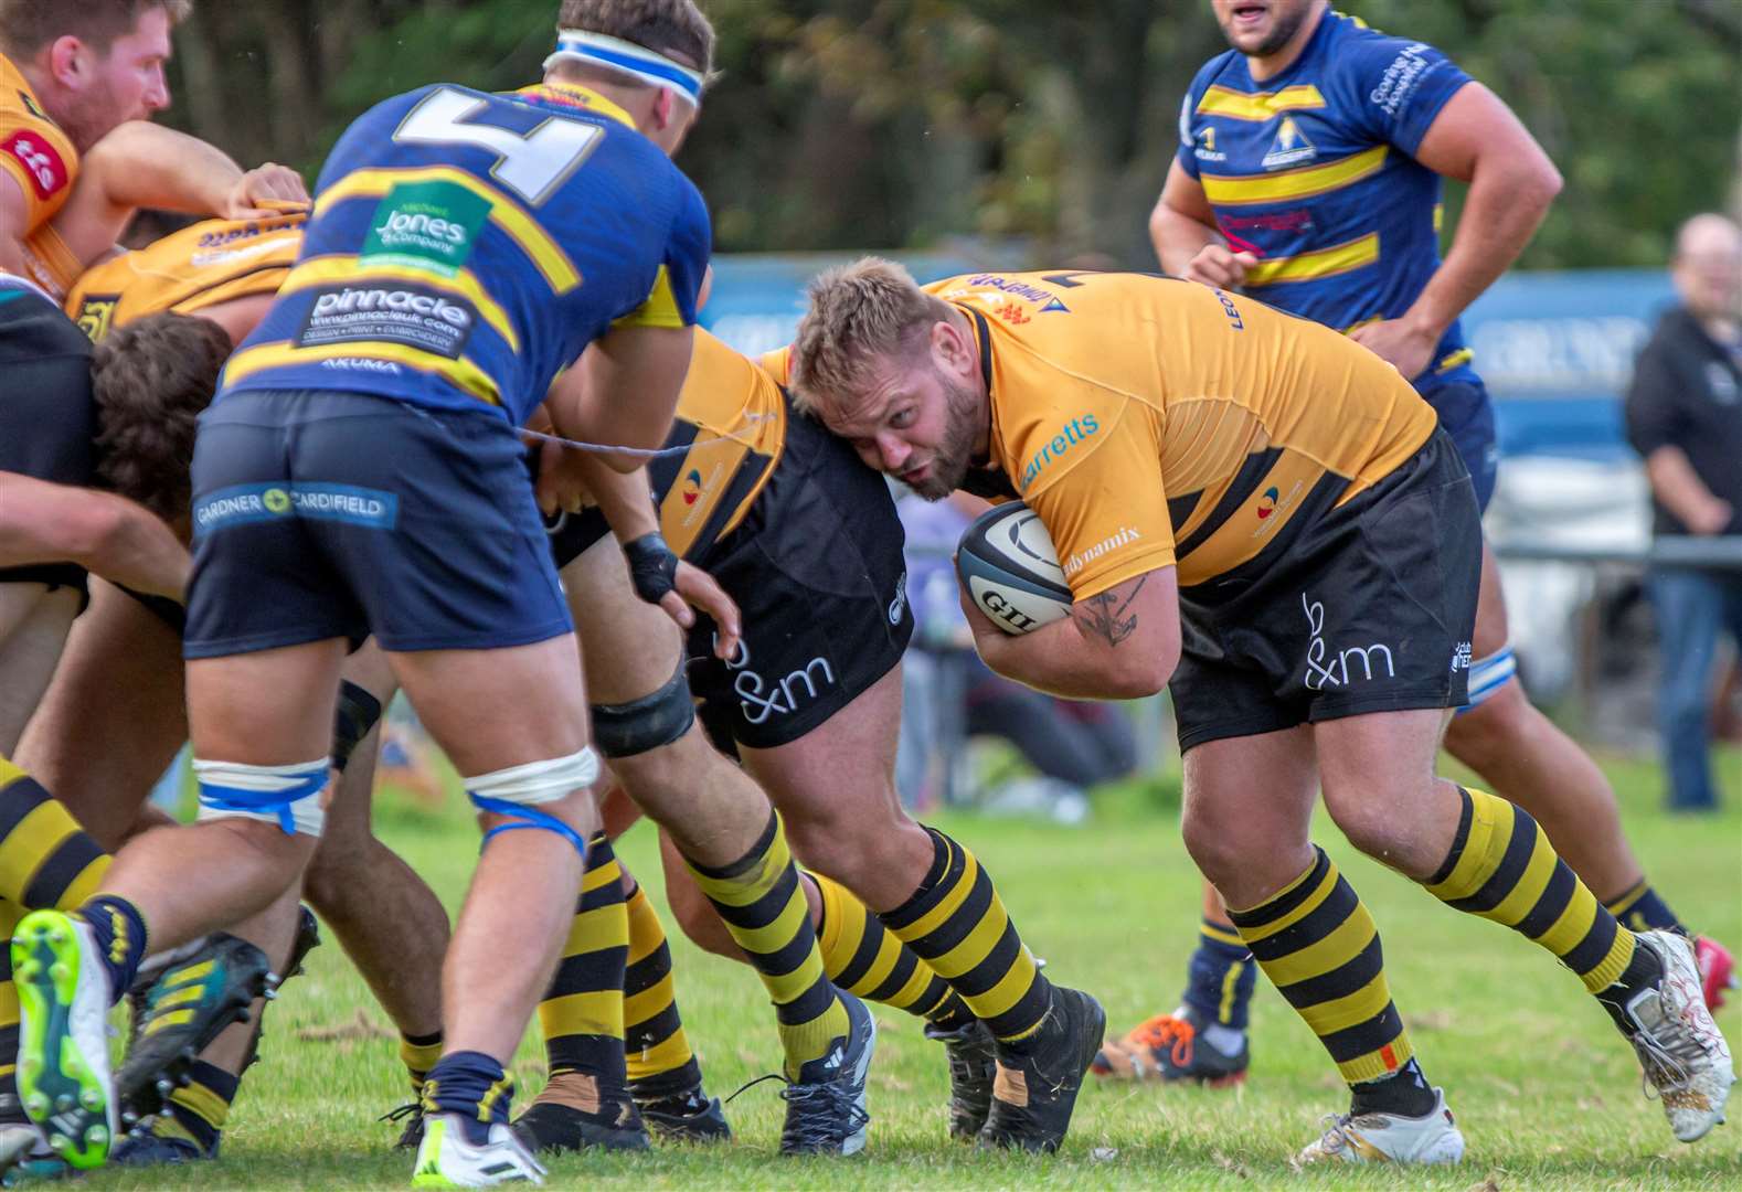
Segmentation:
[[(1150, 218), (1162, 268), (1347, 331), (1439, 413), (1486, 509), (1495, 417), (1458, 317), (1512, 265), (1561, 188), (1524, 125), (1423, 42), (1329, 0), (1212, 0), (1230, 51), (1197, 73), (1179, 150)], [(1469, 183), (1446, 258), (1442, 178)], [(1690, 934), (1644, 878), (1589, 755), (1516, 676), (1493, 554), (1472, 638), (1470, 704), (1448, 751), (1535, 816), (1568, 864), (1632, 927)], [(1707, 1002), (1728, 952), (1695, 941)], [(1219, 1082), (1246, 1072), (1251, 955), (1205, 891), (1183, 1004), (1110, 1046), (1097, 1070)]]

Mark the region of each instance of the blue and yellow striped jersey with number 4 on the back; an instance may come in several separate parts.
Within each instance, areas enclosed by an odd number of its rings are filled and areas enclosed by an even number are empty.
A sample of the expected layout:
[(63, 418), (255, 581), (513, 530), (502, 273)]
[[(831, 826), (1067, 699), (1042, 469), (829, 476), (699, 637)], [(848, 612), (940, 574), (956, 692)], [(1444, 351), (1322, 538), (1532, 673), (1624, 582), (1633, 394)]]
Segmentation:
[(333, 148), (219, 399), (341, 389), (521, 425), (613, 324), (695, 322), (709, 247), (700, 193), (603, 96), (423, 87)]

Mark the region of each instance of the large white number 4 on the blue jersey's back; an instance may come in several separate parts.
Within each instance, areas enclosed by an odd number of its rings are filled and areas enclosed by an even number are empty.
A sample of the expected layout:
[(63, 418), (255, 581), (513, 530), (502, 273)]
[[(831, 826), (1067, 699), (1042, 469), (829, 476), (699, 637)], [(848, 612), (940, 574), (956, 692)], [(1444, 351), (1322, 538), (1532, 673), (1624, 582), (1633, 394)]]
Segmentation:
[(394, 132), (402, 145), (472, 145), (496, 155), (490, 176), (537, 207), (568, 181), (598, 146), (604, 129), (550, 117), (528, 134), (491, 124), (470, 124), (490, 99), (453, 87), (432, 91)]

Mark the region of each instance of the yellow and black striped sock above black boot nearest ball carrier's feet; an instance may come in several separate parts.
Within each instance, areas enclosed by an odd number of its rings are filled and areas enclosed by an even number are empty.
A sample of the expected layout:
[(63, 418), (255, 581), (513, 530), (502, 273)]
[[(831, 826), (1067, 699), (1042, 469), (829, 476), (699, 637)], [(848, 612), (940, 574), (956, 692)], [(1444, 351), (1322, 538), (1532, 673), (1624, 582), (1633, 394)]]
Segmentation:
[(1052, 986), (1016, 934), (991, 875), (944, 833), (925, 831), (932, 871), (913, 897), (878, 918), (962, 995), (993, 1037), (1033, 1035), (1052, 1006)]

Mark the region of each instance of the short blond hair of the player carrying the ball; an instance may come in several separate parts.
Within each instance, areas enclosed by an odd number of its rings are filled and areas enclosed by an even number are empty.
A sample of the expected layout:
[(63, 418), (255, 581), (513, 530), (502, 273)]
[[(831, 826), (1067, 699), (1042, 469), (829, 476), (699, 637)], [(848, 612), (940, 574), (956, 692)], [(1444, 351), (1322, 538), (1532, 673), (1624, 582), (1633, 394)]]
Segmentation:
[(810, 413), (862, 394), (878, 366), (913, 357), (949, 307), (881, 256), (820, 274), (807, 288), (810, 310), (793, 343), (793, 399)]

